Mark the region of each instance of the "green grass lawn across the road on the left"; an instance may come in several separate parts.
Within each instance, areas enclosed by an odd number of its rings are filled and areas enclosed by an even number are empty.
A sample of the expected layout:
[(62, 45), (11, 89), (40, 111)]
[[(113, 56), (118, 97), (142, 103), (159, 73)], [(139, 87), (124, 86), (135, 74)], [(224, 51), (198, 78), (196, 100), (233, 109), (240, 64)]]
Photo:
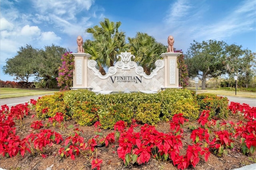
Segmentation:
[(0, 87), (0, 99), (7, 99), (12, 97), (24, 97), (34, 95), (47, 95), (60, 91), (59, 89), (21, 89)]

